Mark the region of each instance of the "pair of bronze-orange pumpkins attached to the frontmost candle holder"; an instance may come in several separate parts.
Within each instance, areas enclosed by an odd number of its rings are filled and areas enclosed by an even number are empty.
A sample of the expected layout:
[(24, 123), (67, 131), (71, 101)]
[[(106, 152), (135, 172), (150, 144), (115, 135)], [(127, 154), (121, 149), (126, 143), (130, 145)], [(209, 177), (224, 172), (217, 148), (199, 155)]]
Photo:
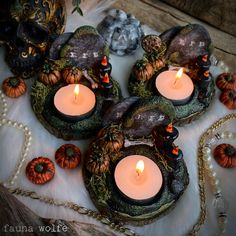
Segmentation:
[(124, 134), (118, 127), (102, 128), (86, 155), (85, 166), (92, 174), (109, 171), (110, 161), (115, 160), (124, 145)]

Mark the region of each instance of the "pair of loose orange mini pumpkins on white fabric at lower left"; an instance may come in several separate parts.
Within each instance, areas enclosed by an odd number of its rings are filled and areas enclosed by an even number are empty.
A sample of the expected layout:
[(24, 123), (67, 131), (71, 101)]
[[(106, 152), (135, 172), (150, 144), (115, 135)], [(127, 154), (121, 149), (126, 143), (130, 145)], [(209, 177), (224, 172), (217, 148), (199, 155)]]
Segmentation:
[[(64, 169), (76, 168), (81, 160), (80, 149), (74, 144), (64, 144), (55, 153), (56, 163)], [(34, 184), (45, 184), (53, 179), (55, 165), (47, 157), (37, 157), (26, 166), (26, 176)]]

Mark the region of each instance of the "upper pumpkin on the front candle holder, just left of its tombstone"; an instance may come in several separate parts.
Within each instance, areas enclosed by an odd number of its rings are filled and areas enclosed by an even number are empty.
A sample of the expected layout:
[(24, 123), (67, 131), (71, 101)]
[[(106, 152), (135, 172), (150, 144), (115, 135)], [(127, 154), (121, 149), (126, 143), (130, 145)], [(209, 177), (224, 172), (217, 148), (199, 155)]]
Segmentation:
[(115, 127), (102, 128), (98, 134), (99, 144), (107, 152), (118, 152), (124, 144), (124, 134)]

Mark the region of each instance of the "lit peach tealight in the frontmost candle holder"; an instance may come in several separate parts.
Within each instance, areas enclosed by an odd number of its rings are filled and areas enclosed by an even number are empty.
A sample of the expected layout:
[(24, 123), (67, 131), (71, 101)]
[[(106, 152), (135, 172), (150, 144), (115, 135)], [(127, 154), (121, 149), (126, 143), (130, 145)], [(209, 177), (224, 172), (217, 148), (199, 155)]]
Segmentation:
[(128, 200), (148, 203), (160, 191), (162, 173), (150, 158), (131, 155), (123, 158), (116, 166), (115, 183)]

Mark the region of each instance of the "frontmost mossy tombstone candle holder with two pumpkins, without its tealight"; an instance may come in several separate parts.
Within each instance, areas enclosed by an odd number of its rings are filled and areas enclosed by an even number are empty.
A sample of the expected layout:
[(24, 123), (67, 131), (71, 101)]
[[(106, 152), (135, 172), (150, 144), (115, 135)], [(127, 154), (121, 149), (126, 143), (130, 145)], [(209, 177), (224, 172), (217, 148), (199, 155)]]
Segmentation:
[[(162, 138), (161, 133), (157, 134), (161, 130), (158, 126), (165, 127), (173, 120), (172, 108), (170, 102), (160, 97), (130, 97), (107, 111), (110, 116), (104, 121), (106, 127), (98, 132), (85, 156), (83, 177), (95, 206), (112, 220), (148, 224), (173, 209), (184, 193), (189, 183), (185, 162), (172, 154), (168, 156), (178, 135), (168, 140), (165, 147), (158, 142)], [(116, 165), (130, 155), (150, 158), (162, 173), (161, 190), (150, 201), (132, 201), (115, 184)]]

